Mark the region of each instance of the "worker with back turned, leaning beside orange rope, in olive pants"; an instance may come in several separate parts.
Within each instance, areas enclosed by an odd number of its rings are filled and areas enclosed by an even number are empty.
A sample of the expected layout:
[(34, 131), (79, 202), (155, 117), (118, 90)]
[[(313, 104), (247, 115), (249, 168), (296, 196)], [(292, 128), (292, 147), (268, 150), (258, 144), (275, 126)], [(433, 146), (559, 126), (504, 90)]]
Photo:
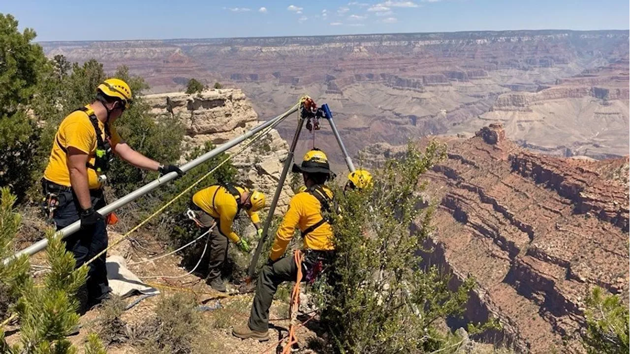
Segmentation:
[(294, 172), (301, 172), (306, 190), (297, 193), (289, 202), (289, 209), (278, 227), (269, 260), (261, 269), (256, 282), (256, 295), (249, 314), (249, 322), (232, 329), (238, 338), (269, 339), (269, 307), (278, 285), (295, 280), (297, 265), (292, 254), (283, 255), (295, 228), (299, 227), (304, 238), (302, 267), (305, 281), (316, 277), (316, 272), (333, 261), (335, 245), (333, 228), (326, 212), (333, 210), (333, 193), (325, 185), (331, 177), (328, 158), (323, 151), (314, 149), (306, 153), (301, 166), (294, 164)]

